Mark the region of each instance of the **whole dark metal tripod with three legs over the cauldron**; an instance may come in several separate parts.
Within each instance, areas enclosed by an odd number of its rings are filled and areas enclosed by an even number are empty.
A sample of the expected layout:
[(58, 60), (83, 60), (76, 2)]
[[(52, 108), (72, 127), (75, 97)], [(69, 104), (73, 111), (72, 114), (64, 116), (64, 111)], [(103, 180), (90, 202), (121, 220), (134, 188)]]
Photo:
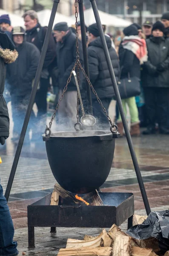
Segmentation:
[[(111, 62), (111, 59), (110, 59), (110, 56), (109, 56), (109, 50), (108, 50), (108, 47), (107, 47), (107, 44), (106, 44), (105, 35), (104, 35), (102, 24), (101, 24), (101, 21), (100, 21), (100, 17), (99, 17), (97, 5), (96, 5), (96, 0), (90, 0), (90, 2), (92, 4), (92, 9), (93, 9), (93, 12), (94, 12), (94, 15), (95, 15), (95, 20), (96, 20), (97, 27), (98, 27), (98, 30), (99, 30), (101, 42), (103, 44), (103, 50), (104, 50), (104, 53), (105, 53), (106, 62), (107, 62), (108, 68), (109, 68), (109, 73), (110, 73), (113, 88), (114, 88), (114, 91), (115, 91), (115, 96), (116, 96), (118, 108), (119, 108), (119, 111), (120, 111), (121, 119), (122, 119), (122, 122), (123, 122), (124, 131), (126, 133), (126, 139), (127, 139), (128, 145), (129, 145), (129, 150), (130, 150), (130, 154), (131, 154), (131, 157), (132, 157), (133, 165), (135, 167), (135, 172), (136, 172), (136, 175), (137, 175), (138, 184), (140, 186), (141, 195), (143, 197), (143, 202), (144, 202), (146, 212), (147, 212), (147, 215), (148, 215), (151, 212), (150, 206), (149, 206), (149, 201), (148, 201), (148, 198), (147, 198), (147, 195), (146, 195), (146, 190), (145, 190), (145, 187), (144, 187), (144, 184), (143, 184), (143, 179), (142, 179), (142, 176), (141, 176), (141, 173), (140, 173), (140, 168), (139, 168), (139, 165), (138, 165), (138, 162), (137, 162), (135, 149), (134, 149), (133, 144), (132, 144), (132, 139), (131, 139), (131, 136), (130, 136), (126, 116), (125, 116), (125, 113), (123, 111), (123, 106), (122, 106), (122, 102), (121, 102), (121, 98), (120, 98), (120, 93), (119, 93), (117, 82), (116, 82), (116, 79), (115, 79), (115, 73), (114, 73), (114, 70), (113, 70), (113, 67), (112, 67), (112, 62)], [(11, 168), (11, 174), (10, 174), (8, 185), (7, 185), (7, 188), (6, 188), (5, 197), (6, 197), (7, 200), (9, 199), (11, 186), (12, 186), (12, 183), (13, 183), (13, 180), (14, 180), (14, 175), (15, 175), (16, 169), (17, 169), (17, 164), (18, 164), (20, 153), (21, 153), (21, 150), (22, 150), (23, 141), (24, 141), (25, 134), (26, 134), (26, 129), (27, 129), (27, 126), (28, 126), (28, 123), (29, 123), (29, 118), (30, 118), (32, 107), (33, 107), (33, 104), (34, 104), (34, 99), (35, 99), (35, 95), (36, 95), (36, 91), (37, 91), (38, 82), (40, 80), (40, 74), (41, 74), (41, 71), (42, 71), (42, 68), (43, 68), (43, 63), (44, 63), (44, 60), (45, 60), (46, 51), (47, 51), (47, 47), (48, 47), (48, 44), (49, 44), (49, 37), (50, 37), (50, 34), (52, 32), (52, 26), (53, 26), (53, 23), (54, 23), (54, 18), (55, 18), (55, 15), (56, 15), (56, 12), (57, 12), (57, 6), (58, 6), (59, 3), (60, 3), (60, 0), (54, 0), (53, 7), (52, 7), (52, 13), (51, 13), (51, 17), (50, 17), (50, 20), (49, 20), (49, 26), (48, 26), (48, 29), (47, 29), (47, 32), (46, 32), (46, 38), (45, 38), (45, 41), (44, 41), (44, 44), (43, 44), (43, 49), (42, 49), (42, 53), (41, 53), (41, 56), (40, 56), (39, 65), (37, 67), (37, 73), (36, 73), (36, 77), (35, 77), (35, 80), (34, 80), (34, 86), (33, 86), (33, 89), (32, 89), (31, 97), (30, 97), (30, 100), (29, 100), (29, 105), (28, 105), (25, 120), (24, 120), (24, 123), (23, 123), (23, 128), (22, 128), (21, 135), (20, 135), (20, 140), (19, 140), (19, 143), (18, 143), (18, 146), (17, 146), (17, 151), (16, 151), (16, 154), (15, 154), (15, 157), (14, 157), (14, 163), (13, 163), (12, 168)], [(85, 72), (86, 72), (87, 76), (89, 77), (89, 66), (88, 66), (87, 49), (86, 49), (86, 32), (85, 32), (84, 13), (83, 13), (83, 0), (78, 0), (78, 3), (79, 3), (81, 34), (82, 34), (84, 69), (85, 69)], [(86, 82), (86, 92), (87, 92), (87, 101), (88, 101), (88, 111), (89, 111), (90, 114), (92, 114), (91, 89), (90, 89), (90, 86), (87, 82)]]

